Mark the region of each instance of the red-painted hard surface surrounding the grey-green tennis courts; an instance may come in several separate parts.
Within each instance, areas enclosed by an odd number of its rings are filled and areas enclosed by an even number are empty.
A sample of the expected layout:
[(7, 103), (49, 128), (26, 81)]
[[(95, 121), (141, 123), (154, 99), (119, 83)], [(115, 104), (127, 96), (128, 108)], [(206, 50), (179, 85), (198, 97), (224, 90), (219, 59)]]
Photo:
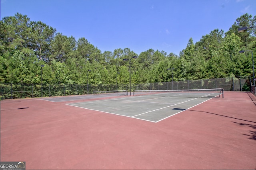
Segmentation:
[(158, 123), (70, 103), (1, 101), (0, 161), (25, 161), (28, 170), (256, 169), (250, 93), (224, 92)]

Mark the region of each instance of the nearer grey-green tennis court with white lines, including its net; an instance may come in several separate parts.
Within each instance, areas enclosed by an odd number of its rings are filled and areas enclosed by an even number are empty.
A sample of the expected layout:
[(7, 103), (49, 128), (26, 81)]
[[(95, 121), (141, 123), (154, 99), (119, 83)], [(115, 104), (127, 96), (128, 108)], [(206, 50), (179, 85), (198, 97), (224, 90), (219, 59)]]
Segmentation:
[[(210, 98), (219, 98), (220, 94), (223, 95), (222, 89), (189, 91), (137, 90), (135, 93), (137, 96), (130, 98), (79, 102), (68, 105), (146, 121), (159, 122), (172, 115), (201, 104)], [(106, 95), (106, 91), (104, 91), (104, 95)]]

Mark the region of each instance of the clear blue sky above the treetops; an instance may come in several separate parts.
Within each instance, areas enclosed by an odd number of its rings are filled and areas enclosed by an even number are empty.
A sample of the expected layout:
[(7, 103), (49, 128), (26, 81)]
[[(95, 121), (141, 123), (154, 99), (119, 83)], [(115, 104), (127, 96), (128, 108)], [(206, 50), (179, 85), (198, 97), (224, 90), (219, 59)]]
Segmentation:
[(214, 29), (224, 32), (256, 0), (1, 0), (1, 19), (16, 13), (42, 21), (104, 51), (154, 49), (179, 55)]

